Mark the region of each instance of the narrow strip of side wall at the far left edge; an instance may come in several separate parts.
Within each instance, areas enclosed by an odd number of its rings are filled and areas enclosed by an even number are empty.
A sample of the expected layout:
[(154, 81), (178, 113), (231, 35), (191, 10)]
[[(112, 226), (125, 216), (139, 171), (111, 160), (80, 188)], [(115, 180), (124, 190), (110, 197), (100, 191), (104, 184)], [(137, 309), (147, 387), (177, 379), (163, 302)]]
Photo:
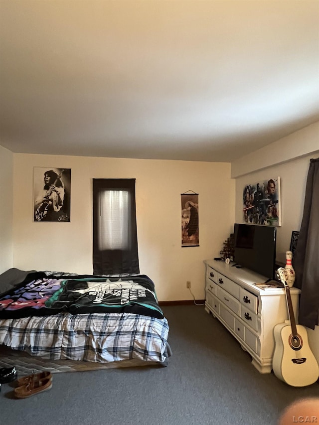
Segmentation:
[(13, 154), (0, 146), (0, 273), (13, 267)]

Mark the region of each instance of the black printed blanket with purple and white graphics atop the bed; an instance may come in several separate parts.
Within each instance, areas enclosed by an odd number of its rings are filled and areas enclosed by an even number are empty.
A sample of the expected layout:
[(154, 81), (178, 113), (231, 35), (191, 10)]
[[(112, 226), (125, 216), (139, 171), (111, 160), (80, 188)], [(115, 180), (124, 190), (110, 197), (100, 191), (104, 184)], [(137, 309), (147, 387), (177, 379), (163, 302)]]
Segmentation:
[(163, 318), (153, 281), (146, 275), (94, 276), (30, 273), (0, 296), (0, 318), (129, 312)]

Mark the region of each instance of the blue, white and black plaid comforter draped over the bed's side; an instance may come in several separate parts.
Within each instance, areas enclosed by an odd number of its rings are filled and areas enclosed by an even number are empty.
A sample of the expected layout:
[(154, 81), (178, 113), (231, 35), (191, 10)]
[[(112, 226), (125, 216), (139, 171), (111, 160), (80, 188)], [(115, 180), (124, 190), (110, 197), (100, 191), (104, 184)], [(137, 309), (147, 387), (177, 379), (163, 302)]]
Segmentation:
[(58, 360), (113, 362), (167, 360), (165, 318), (132, 313), (67, 312), (0, 320), (0, 344)]

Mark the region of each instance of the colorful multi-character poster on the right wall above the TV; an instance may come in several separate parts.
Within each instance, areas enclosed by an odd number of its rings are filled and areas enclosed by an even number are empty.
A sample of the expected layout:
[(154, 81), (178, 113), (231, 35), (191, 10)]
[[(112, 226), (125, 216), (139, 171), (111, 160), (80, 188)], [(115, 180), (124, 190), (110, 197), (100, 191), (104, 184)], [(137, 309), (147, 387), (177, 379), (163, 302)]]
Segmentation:
[(265, 226), (281, 226), (280, 177), (245, 185), (243, 221)]

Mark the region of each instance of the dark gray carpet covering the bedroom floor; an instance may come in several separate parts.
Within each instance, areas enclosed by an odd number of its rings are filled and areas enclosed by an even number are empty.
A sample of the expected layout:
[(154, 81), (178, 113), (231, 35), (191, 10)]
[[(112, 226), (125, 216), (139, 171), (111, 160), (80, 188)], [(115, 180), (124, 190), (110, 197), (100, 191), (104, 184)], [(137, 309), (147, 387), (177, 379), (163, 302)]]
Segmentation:
[(291, 402), (318, 397), (261, 375), (251, 357), (203, 306), (164, 306), (168, 366), (58, 373), (52, 389), (15, 400), (0, 393), (6, 425), (272, 425)]

